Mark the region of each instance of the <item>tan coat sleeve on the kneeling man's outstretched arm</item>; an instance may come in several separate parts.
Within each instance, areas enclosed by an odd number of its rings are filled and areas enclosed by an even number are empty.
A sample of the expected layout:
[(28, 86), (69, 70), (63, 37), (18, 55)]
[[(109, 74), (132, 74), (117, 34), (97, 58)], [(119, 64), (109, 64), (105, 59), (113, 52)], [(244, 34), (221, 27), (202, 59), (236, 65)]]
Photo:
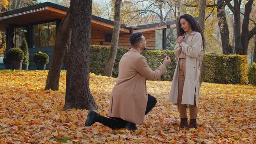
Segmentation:
[(153, 71), (148, 66), (146, 58), (141, 56), (138, 59), (135, 69), (144, 77), (151, 81), (156, 81), (164, 72), (166, 72), (166, 65), (161, 64), (157, 70)]

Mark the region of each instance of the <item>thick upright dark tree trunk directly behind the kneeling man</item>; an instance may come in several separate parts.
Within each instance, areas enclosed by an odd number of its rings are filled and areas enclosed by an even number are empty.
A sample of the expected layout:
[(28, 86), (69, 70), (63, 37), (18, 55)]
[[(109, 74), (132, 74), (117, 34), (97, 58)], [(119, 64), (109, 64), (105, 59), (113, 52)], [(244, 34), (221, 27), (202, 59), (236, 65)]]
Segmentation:
[(71, 0), (66, 97), (63, 110), (69, 108), (98, 109), (89, 88), (92, 0)]

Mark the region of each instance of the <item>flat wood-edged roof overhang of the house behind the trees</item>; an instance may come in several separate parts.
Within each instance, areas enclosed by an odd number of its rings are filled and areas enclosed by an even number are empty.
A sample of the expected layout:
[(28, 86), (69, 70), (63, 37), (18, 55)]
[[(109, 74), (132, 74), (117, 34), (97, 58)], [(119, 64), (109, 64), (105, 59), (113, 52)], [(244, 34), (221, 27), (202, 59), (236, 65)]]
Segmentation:
[[(68, 10), (68, 7), (46, 2), (5, 13), (0, 13), (0, 31), (5, 31), (5, 29), (10, 26), (23, 26), (29, 23), (40, 23), (49, 20), (62, 20)], [(120, 34), (131, 33), (132, 31), (135, 33), (138, 31), (145, 32), (157, 29), (166, 29), (173, 26), (175, 26), (175, 21), (165, 21), (135, 26), (125, 26), (124, 24), (121, 24)], [(92, 27), (102, 28), (107, 33), (112, 33), (114, 28), (114, 21), (92, 15)]]

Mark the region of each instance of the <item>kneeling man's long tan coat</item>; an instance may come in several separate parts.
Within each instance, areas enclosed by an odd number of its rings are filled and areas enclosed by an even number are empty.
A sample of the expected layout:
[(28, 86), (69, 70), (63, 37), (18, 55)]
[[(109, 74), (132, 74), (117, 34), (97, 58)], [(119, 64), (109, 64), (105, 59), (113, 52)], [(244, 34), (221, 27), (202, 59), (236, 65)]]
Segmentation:
[(122, 56), (118, 66), (118, 78), (111, 93), (109, 117), (121, 118), (135, 124), (143, 124), (148, 94), (146, 79), (155, 81), (164, 72), (162, 64), (152, 71), (144, 56), (131, 49)]

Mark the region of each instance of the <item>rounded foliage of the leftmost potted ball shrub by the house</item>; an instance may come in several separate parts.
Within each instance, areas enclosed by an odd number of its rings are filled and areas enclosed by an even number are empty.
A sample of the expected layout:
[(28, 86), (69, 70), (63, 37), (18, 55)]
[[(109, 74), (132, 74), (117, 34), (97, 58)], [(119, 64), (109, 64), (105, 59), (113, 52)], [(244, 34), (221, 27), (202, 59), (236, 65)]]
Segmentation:
[(24, 53), (21, 49), (19, 48), (11, 48), (7, 51), (6, 53), (6, 58), (9, 60), (9, 61), (13, 61), (13, 60), (16, 60), (16, 61), (23, 61), (24, 59)]

